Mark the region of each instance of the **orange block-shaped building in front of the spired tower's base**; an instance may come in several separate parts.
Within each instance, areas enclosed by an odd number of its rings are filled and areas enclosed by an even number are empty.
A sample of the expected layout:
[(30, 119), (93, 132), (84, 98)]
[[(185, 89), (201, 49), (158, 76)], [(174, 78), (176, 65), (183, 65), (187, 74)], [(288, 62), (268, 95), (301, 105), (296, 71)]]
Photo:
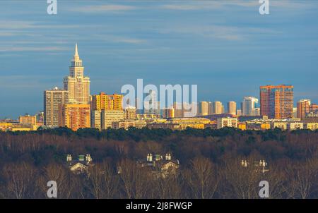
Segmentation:
[(90, 104), (64, 104), (59, 111), (59, 126), (76, 131), (90, 128)]

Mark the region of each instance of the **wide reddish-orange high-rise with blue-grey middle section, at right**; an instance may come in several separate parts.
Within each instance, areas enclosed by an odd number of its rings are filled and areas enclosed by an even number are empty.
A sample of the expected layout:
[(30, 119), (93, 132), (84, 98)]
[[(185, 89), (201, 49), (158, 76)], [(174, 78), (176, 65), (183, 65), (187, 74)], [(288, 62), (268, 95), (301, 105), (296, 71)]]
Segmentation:
[(261, 116), (276, 119), (293, 118), (293, 85), (266, 85), (259, 89)]

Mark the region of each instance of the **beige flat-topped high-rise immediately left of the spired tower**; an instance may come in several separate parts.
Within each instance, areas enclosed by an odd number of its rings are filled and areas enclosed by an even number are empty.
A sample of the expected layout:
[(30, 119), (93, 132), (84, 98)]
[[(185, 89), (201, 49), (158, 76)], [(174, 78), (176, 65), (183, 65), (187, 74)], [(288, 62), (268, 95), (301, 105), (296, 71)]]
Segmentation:
[(45, 126), (59, 126), (59, 108), (63, 104), (69, 104), (69, 91), (55, 87), (44, 92)]

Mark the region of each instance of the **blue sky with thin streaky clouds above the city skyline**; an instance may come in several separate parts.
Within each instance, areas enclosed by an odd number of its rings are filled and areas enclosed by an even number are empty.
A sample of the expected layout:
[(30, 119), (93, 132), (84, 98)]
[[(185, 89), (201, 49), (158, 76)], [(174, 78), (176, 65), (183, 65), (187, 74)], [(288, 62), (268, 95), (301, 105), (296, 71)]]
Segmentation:
[[(318, 1), (0, 1), (0, 118), (43, 110), (75, 43), (90, 93), (122, 85), (198, 85), (198, 99), (240, 103), (260, 85), (318, 102)], [(238, 104), (239, 105), (239, 104)]]

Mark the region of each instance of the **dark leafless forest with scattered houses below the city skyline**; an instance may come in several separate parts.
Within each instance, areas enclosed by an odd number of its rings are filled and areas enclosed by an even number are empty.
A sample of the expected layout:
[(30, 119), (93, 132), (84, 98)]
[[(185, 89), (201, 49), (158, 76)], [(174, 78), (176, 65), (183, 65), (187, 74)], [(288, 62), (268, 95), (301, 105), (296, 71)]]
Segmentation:
[[(153, 178), (136, 164), (168, 152), (179, 160), (176, 174)], [(90, 154), (94, 166), (73, 174), (66, 154)], [(263, 159), (265, 173), (241, 165)], [(269, 182), (271, 199), (318, 198), (318, 130), (0, 132), (0, 198), (46, 198), (51, 180), (57, 198), (257, 199), (260, 181)]]

